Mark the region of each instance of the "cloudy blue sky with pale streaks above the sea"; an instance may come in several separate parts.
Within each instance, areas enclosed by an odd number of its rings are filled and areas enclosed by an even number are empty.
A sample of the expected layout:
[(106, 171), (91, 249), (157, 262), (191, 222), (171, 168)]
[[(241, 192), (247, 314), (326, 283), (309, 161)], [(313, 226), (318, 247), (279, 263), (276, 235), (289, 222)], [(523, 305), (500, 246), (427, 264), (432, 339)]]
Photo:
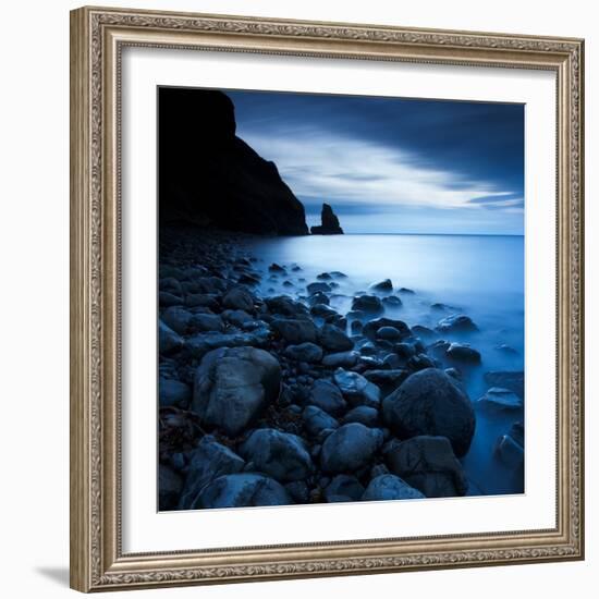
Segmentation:
[(237, 135), (346, 233), (523, 234), (524, 106), (225, 91)]

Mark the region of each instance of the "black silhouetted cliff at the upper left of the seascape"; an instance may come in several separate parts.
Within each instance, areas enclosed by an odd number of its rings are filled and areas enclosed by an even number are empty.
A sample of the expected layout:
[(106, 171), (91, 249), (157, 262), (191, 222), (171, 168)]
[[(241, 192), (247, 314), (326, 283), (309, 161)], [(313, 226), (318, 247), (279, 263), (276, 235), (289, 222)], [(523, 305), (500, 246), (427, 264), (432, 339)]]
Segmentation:
[(304, 207), (274, 163), (235, 136), (234, 106), (223, 93), (160, 88), (159, 136), (161, 224), (307, 234)]

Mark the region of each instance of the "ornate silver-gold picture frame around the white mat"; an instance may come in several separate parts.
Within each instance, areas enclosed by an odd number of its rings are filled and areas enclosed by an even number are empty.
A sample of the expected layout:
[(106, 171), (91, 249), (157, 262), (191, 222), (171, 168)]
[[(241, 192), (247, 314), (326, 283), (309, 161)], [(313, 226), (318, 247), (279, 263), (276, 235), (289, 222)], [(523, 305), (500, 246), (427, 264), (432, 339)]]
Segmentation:
[[(558, 80), (558, 501), (548, 530), (123, 554), (120, 57), (164, 48), (492, 65)], [(71, 13), (71, 586), (82, 591), (584, 557), (584, 41), (83, 8)]]

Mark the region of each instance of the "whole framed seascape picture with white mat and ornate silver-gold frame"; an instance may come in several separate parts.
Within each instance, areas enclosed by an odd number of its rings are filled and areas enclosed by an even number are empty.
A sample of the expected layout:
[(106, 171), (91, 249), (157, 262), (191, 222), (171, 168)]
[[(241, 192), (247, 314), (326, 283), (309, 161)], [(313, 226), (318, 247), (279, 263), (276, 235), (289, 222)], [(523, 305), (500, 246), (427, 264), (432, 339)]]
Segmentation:
[(71, 13), (71, 585), (580, 560), (580, 39)]

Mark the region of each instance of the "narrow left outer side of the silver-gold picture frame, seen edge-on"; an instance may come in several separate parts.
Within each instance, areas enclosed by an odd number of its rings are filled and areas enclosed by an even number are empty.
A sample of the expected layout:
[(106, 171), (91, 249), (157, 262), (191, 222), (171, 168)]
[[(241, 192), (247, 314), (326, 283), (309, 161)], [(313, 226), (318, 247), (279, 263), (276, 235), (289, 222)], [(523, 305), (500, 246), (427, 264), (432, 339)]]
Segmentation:
[(90, 589), (89, 70), (87, 11), (70, 13), (70, 587)]

